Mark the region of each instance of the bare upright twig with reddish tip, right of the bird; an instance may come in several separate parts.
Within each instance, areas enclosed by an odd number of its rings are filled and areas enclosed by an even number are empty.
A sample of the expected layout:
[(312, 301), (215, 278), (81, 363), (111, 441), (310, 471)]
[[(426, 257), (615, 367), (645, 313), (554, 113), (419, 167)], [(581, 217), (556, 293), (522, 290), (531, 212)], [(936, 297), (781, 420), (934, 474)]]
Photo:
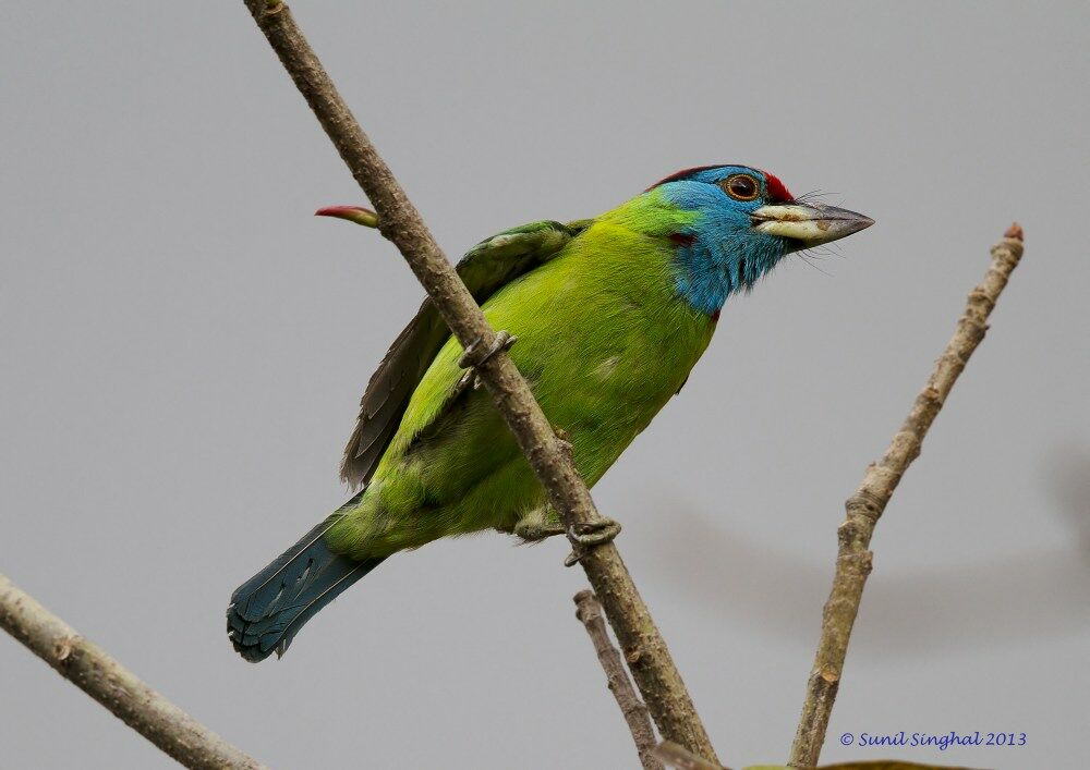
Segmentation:
[(868, 549), (874, 525), (905, 470), (919, 456), (923, 437), (969, 356), (984, 339), (988, 316), (1021, 255), (1022, 230), (1016, 223), (1004, 233), (1003, 241), (992, 246), (992, 262), (984, 280), (969, 294), (965, 315), (958, 321), (946, 350), (935, 362), (928, 384), (916, 398), (905, 424), (893, 437), (882, 460), (867, 468), (859, 489), (845, 503), (847, 518), (837, 529), (836, 574), (822, 618), (821, 639), (810, 673), (802, 717), (791, 746), (788, 762), (791, 767), (811, 768), (818, 763), (844, 670), (851, 626), (859, 612), (863, 585), (871, 572), (872, 553)]

